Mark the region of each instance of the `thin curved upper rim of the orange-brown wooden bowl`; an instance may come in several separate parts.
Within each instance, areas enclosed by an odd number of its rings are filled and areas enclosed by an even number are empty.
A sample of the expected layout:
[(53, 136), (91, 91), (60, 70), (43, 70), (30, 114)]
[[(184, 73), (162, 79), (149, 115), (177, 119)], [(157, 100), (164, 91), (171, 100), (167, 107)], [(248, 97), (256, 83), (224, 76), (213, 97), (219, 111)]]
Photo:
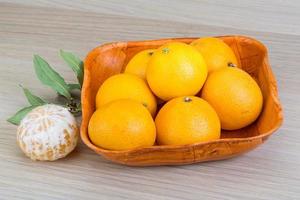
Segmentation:
[[(252, 42), (256, 43), (256, 45), (260, 46), (262, 49), (264, 49), (265, 55), (263, 57), (263, 62), (265, 63), (266, 67), (266, 73), (268, 73), (269, 75), (269, 83), (272, 86), (271, 87), (271, 91), (270, 91), (270, 95), (272, 100), (274, 101), (274, 103), (276, 104), (279, 113), (278, 113), (278, 118), (279, 120), (277, 121), (276, 125), (270, 129), (269, 131), (257, 135), (257, 136), (252, 136), (252, 137), (245, 137), (245, 138), (223, 138), (223, 139), (218, 139), (218, 140), (213, 140), (213, 141), (208, 141), (208, 142), (199, 142), (199, 143), (193, 143), (193, 144), (186, 144), (186, 145), (153, 145), (153, 146), (149, 146), (149, 147), (140, 147), (140, 148), (135, 148), (135, 149), (129, 149), (129, 150), (109, 150), (109, 149), (103, 149), (101, 147), (98, 147), (96, 145), (94, 145), (88, 136), (88, 131), (85, 131), (84, 128), (85, 126), (88, 126), (88, 120), (86, 120), (84, 118), (84, 111), (82, 111), (82, 123), (81, 123), (81, 127), (80, 127), (80, 136), (82, 141), (92, 150), (96, 151), (97, 153), (100, 154), (107, 154), (107, 153), (111, 153), (111, 154), (132, 154), (135, 152), (148, 152), (148, 151), (157, 151), (157, 150), (172, 150), (172, 149), (179, 149), (179, 148), (192, 148), (192, 147), (196, 147), (196, 146), (202, 146), (202, 145), (210, 145), (210, 144), (217, 144), (217, 143), (227, 143), (227, 142), (248, 142), (248, 141), (252, 141), (252, 140), (259, 140), (259, 139), (263, 139), (265, 137), (270, 136), (273, 132), (275, 132), (283, 123), (283, 110), (282, 110), (282, 106), (279, 100), (279, 96), (278, 96), (278, 91), (277, 91), (277, 82), (275, 79), (275, 76), (272, 72), (270, 63), (269, 63), (269, 59), (268, 59), (268, 51), (267, 48), (265, 47), (265, 45), (263, 43), (261, 43), (260, 41), (252, 38), (252, 37), (248, 37), (248, 36), (243, 36), (243, 35), (221, 35), (221, 36), (213, 36), (213, 37), (217, 37), (217, 38), (243, 38), (243, 39), (249, 39)], [(178, 37), (178, 38), (162, 38), (162, 39), (154, 39), (154, 40), (141, 40), (141, 41), (127, 41), (127, 42), (110, 42), (110, 43), (105, 43), (102, 45), (99, 45), (97, 47), (95, 47), (94, 49), (92, 49), (86, 56), (85, 60), (84, 60), (84, 81), (83, 81), (83, 87), (82, 87), (82, 93), (81, 93), (81, 103), (82, 103), (82, 109), (84, 109), (84, 104), (85, 102), (85, 89), (88, 87), (90, 83), (90, 80), (88, 79), (89, 76), (89, 70), (87, 63), (89, 62), (89, 60), (91, 59), (91, 57), (93, 56), (93, 54), (96, 52), (96, 50), (99, 49), (106, 49), (106, 48), (114, 48), (114, 47), (124, 47), (124, 48), (128, 48), (128, 47), (135, 47), (135, 46), (141, 46), (141, 45), (145, 45), (145, 44), (149, 44), (149, 43), (157, 43), (157, 42), (167, 42), (167, 41), (190, 41), (190, 40), (195, 40), (198, 39), (200, 37)], [(264, 141), (264, 140), (263, 140)]]

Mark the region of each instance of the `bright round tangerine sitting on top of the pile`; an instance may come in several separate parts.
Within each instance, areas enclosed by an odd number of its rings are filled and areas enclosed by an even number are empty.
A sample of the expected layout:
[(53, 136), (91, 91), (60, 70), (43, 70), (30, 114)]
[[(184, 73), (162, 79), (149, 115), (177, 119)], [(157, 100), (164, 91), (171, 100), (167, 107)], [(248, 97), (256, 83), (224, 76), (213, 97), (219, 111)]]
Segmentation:
[(146, 76), (154, 94), (167, 101), (197, 94), (206, 80), (207, 68), (194, 47), (170, 42), (153, 53)]

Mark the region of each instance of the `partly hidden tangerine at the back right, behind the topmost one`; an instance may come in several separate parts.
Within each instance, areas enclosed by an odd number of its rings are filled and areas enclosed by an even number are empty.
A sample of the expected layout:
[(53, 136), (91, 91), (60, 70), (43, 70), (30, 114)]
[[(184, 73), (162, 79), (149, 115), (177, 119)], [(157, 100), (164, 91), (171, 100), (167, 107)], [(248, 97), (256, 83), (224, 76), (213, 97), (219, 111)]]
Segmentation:
[(191, 43), (203, 56), (208, 73), (223, 67), (229, 63), (238, 66), (237, 58), (232, 49), (221, 39), (213, 37), (200, 38)]

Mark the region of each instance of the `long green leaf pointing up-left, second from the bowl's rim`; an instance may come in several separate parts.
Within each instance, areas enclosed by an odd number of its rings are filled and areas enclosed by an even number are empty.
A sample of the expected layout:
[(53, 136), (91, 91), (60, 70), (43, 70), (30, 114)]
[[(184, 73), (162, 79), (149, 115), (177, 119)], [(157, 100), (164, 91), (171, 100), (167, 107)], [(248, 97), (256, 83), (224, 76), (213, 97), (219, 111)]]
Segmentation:
[(69, 87), (65, 80), (43, 58), (39, 55), (34, 55), (33, 63), (35, 73), (43, 84), (50, 86), (67, 99), (71, 99)]

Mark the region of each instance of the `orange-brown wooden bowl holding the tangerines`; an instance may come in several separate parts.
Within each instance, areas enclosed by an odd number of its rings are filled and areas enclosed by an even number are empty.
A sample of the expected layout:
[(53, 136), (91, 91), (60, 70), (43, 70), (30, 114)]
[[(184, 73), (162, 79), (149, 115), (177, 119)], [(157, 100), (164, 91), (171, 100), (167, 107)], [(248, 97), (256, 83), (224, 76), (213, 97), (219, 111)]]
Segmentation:
[(95, 146), (88, 136), (88, 123), (95, 111), (95, 96), (108, 77), (123, 72), (133, 55), (141, 50), (157, 48), (167, 42), (190, 43), (196, 38), (174, 38), (137, 42), (116, 42), (93, 49), (84, 63), (82, 88), (81, 138), (96, 153), (131, 166), (182, 165), (237, 156), (262, 144), (282, 123), (282, 108), (271, 71), (267, 49), (255, 39), (244, 36), (221, 36), (235, 52), (240, 66), (259, 84), (264, 106), (259, 118), (250, 126), (236, 131), (222, 131), (221, 139), (180, 146), (152, 146), (126, 151), (111, 151)]

